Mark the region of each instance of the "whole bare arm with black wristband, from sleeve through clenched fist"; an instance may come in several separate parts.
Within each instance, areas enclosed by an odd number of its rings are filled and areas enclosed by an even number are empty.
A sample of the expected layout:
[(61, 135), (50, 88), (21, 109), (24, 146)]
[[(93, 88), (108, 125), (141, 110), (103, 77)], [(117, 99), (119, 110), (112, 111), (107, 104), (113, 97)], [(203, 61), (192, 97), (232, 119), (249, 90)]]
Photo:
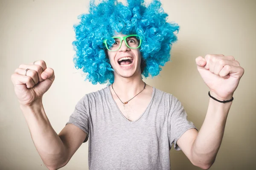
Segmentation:
[[(198, 71), (209, 87), (210, 94), (218, 100), (230, 100), (244, 74), (233, 56), (207, 54), (195, 59)], [(207, 114), (201, 130), (187, 130), (177, 144), (189, 160), (203, 169), (209, 169), (215, 161), (221, 145), (227, 114), (232, 102), (220, 103), (210, 98)]]

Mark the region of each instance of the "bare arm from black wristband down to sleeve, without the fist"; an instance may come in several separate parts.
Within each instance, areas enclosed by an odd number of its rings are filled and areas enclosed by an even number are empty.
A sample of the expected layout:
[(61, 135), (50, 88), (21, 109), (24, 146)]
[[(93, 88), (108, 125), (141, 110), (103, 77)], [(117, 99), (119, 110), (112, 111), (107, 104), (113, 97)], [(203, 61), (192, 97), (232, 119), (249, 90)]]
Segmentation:
[(231, 104), (232, 102), (220, 103), (210, 98), (199, 132), (195, 129), (187, 130), (177, 141), (183, 153), (195, 166), (209, 169), (215, 161)]

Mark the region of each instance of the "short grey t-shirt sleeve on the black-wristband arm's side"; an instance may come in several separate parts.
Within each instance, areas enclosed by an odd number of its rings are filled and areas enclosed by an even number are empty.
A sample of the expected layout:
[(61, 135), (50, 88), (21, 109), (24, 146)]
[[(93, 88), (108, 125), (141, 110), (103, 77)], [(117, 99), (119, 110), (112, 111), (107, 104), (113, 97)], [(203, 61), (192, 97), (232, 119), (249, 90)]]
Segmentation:
[[(187, 130), (195, 128), (198, 130), (195, 125), (187, 119), (187, 113), (181, 105), (180, 101), (175, 98), (174, 106), (171, 106), (169, 113), (169, 142), (170, 147), (174, 144), (175, 150), (181, 150), (177, 145), (177, 140), (185, 133)], [(177, 101), (177, 102), (176, 102)], [(172, 100), (173, 102), (173, 100)]]

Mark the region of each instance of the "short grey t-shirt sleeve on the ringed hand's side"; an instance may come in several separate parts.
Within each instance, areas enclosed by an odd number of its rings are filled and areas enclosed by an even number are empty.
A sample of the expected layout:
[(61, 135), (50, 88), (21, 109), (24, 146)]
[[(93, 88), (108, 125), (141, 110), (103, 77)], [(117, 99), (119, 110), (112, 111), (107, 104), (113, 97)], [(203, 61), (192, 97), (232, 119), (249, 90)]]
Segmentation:
[[(86, 95), (82, 97), (79, 102), (77, 102), (75, 106), (75, 110), (70, 115), (69, 121), (66, 123), (76, 125), (81, 130), (83, 130), (85, 133), (87, 133), (87, 137), (84, 140), (84, 142), (87, 142), (89, 137), (89, 107), (87, 103), (87, 97)], [(83, 142), (83, 143), (84, 143)]]

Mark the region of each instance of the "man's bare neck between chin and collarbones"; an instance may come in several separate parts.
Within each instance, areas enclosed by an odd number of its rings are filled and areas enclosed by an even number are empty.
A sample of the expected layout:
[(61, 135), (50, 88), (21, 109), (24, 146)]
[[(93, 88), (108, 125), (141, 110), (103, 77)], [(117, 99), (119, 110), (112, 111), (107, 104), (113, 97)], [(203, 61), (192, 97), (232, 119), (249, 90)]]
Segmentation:
[(113, 89), (120, 98), (129, 99), (142, 91), (144, 85), (145, 83), (143, 82), (141, 75), (140, 77), (137, 76), (129, 78), (115, 77)]

